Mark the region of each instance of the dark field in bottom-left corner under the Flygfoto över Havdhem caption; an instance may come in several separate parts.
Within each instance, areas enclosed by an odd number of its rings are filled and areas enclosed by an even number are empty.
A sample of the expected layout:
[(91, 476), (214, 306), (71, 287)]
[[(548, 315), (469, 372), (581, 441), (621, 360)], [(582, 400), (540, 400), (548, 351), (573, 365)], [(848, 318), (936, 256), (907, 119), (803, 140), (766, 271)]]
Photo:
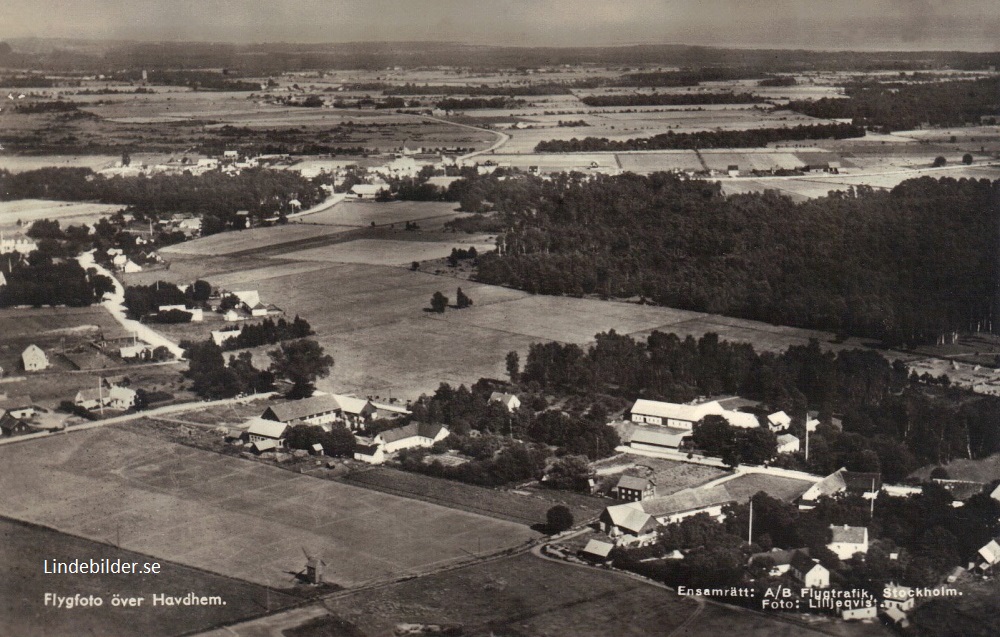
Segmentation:
[[(152, 575), (43, 575), (44, 560), (122, 560), (144, 564), (146, 555), (57, 531), (0, 519), (0, 626), (5, 635), (135, 635), (158, 637), (204, 630), (278, 610), (296, 601), (272, 588), (161, 562)], [(152, 606), (153, 594), (219, 596), (225, 606)], [(45, 606), (45, 593), (94, 595), (100, 608)], [(112, 607), (112, 596), (144, 597), (139, 607)]]

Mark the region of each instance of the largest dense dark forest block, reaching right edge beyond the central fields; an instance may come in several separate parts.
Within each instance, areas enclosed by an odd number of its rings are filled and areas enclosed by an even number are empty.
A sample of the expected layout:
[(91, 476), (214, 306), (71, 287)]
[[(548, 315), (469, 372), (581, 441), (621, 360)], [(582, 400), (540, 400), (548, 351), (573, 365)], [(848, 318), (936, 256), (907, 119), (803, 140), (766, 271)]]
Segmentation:
[(659, 173), (468, 177), (448, 197), (503, 225), (478, 258), (486, 283), (898, 345), (991, 326), (997, 188), (923, 177), (794, 203)]

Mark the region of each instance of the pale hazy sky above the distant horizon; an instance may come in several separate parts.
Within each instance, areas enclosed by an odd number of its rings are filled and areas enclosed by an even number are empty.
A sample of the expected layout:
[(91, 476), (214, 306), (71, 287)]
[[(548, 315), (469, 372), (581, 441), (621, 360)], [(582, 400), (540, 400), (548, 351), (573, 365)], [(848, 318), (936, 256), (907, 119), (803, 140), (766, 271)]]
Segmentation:
[(1000, 0), (0, 0), (0, 38), (1000, 50)]

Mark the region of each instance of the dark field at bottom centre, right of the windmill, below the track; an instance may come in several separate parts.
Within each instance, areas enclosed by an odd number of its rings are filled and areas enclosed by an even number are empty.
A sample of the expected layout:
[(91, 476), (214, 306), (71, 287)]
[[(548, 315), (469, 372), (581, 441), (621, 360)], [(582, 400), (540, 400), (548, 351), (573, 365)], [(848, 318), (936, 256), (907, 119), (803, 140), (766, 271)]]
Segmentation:
[[(475, 593), (475, 594), (473, 594)], [(363, 634), (390, 635), (396, 624), (461, 624), (464, 635), (818, 634), (764, 615), (709, 605), (620, 573), (519, 555), (364, 593), (336, 596), (326, 608)], [(690, 631), (690, 632), (687, 632)]]

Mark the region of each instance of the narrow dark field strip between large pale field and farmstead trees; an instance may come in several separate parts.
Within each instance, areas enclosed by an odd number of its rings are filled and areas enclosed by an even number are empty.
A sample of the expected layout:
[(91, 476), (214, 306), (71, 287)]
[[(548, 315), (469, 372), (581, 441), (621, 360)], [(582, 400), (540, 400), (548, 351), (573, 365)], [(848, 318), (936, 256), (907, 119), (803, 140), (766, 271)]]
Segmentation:
[(597, 498), (591, 498), (588, 502), (590, 506), (580, 507), (560, 500), (562, 493), (558, 491), (545, 493), (548, 496), (546, 499), (539, 497), (543, 494), (520, 495), (386, 467), (352, 471), (346, 479), (368, 488), (529, 526), (544, 523), (546, 511), (556, 504), (569, 506), (577, 521), (596, 517), (604, 504)]

